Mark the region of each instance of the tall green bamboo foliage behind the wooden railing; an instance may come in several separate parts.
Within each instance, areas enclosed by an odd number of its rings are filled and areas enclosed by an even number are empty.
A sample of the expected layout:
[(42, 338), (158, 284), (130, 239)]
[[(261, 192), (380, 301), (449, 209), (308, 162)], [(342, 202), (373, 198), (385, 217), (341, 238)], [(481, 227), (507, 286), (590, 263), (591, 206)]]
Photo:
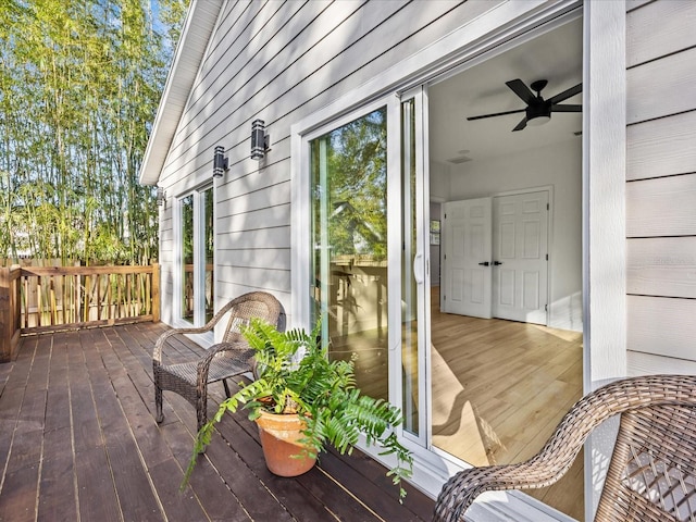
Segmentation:
[(3, 0), (0, 257), (148, 263), (138, 184), (188, 0)]

